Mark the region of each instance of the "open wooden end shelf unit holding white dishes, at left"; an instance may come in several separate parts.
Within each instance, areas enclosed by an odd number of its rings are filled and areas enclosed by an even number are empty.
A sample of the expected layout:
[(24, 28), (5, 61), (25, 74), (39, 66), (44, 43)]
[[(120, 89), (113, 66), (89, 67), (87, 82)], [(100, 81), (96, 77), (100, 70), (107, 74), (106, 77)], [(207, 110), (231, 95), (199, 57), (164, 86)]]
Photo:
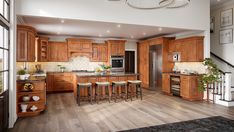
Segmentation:
[[(22, 91), (24, 84), (31, 83), (33, 85), (33, 90), (29, 92)], [(29, 96), (29, 101), (23, 101), (24, 96)], [(33, 96), (39, 96), (38, 101), (32, 99)], [(17, 115), (18, 117), (36, 116), (46, 109), (46, 84), (45, 80), (41, 81), (19, 81), (17, 82)], [(27, 104), (27, 112), (22, 112), (21, 104)], [(30, 110), (30, 108), (35, 105), (38, 109), (36, 111)]]

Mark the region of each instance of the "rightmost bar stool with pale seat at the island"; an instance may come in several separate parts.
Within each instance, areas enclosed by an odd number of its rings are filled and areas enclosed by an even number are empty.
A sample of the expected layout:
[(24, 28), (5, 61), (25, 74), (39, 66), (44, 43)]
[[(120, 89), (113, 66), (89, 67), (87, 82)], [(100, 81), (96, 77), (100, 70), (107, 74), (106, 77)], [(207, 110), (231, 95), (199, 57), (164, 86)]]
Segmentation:
[(130, 94), (130, 98), (132, 101), (132, 87), (134, 86), (136, 88), (136, 97), (138, 98), (138, 96), (141, 96), (141, 100), (142, 100), (142, 88), (141, 88), (141, 81), (140, 80), (128, 80), (128, 90), (127, 90), (127, 97), (129, 97)]

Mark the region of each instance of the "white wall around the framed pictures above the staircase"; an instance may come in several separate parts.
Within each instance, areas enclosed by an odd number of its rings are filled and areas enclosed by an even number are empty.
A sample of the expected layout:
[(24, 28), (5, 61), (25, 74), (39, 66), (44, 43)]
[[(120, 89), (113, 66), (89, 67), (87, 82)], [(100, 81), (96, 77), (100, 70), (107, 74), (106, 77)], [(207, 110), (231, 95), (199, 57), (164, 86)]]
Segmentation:
[[(217, 7), (216, 9), (211, 10), (211, 16), (215, 17), (215, 31), (214, 33), (211, 33), (211, 51), (234, 65), (234, 43), (225, 45), (219, 44), (220, 12), (230, 8), (234, 8), (234, 1), (232, 1), (232, 3), (227, 3)], [(233, 26), (222, 29), (227, 28), (234, 28), (234, 24)]]

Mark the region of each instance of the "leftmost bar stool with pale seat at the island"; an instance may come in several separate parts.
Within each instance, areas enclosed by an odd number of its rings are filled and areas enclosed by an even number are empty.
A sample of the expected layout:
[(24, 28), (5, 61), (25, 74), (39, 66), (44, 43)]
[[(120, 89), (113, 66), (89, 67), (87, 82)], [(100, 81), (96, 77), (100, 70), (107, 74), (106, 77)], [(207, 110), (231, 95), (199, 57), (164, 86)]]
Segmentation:
[[(82, 88), (87, 88), (88, 90), (88, 98), (91, 102), (91, 104), (93, 104), (92, 99), (93, 99), (93, 92), (92, 92), (92, 83), (78, 83), (77, 84), (77, 102), (78, 105), (80, 106), (80, 100), (81, 100), (81, 96), (80, 96), (80, 91)], [(85, 98), (85, 97), (83, 97)]]

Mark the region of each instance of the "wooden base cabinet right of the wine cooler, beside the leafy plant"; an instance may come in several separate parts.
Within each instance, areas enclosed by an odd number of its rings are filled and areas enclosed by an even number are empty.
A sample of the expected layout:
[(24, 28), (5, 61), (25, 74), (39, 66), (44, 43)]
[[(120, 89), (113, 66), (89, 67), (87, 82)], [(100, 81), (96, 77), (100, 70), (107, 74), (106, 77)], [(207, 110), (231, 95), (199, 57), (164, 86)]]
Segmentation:
[(202, 100), (203, 92), (198, 90), (198, 76), (181, 75), (180, 96), (190, 101)]

